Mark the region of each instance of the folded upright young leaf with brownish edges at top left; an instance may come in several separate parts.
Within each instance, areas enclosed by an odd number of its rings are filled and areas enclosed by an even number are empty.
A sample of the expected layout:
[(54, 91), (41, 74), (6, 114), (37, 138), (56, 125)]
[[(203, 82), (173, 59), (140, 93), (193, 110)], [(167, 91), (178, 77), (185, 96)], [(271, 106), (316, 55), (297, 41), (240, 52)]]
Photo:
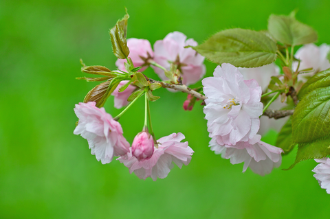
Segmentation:
[(126, 41), (127, 19), (129, 19), (129, 15), (125, 14), (124, 18), (117, 21), (109, 32), (113, 54), (120, 59), (126, 59), (129, 56), (129, 47), (127, 47)]

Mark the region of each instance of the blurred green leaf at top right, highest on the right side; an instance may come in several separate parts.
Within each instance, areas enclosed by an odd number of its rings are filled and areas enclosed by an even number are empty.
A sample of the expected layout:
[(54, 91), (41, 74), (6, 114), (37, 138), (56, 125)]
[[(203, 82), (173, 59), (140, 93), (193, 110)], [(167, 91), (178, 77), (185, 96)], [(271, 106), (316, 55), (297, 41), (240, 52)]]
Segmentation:
[(294, 14), (289, 16), (271, 14), (268, 19), (268, 30), (278, 42), (284, 45), (303, 45), (313, 43), (318, 39), (315, 30), (297, 21)]

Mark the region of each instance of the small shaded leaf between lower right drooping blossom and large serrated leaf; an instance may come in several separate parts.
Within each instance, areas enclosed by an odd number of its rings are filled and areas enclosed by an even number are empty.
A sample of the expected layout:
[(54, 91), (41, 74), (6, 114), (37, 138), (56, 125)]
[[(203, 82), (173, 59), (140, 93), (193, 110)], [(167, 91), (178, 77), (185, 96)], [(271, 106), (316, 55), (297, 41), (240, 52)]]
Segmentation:
[(278, 133), (275, 146), (282, 148), (284, 154), (289, 153), (296, 143), (292, 141), (292, 117), (289, 117), (287, 122), (281, 128), (281, 131)]

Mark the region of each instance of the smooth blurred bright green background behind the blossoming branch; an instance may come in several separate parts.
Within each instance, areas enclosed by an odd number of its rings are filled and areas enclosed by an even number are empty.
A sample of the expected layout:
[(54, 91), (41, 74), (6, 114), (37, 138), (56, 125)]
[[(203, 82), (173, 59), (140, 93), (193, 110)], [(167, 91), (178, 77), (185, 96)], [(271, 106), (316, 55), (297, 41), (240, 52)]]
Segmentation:
[[(329, 218), (330, 195), (305, 161), (259, 176), (208, 148), (202, 106), (182, 110), (186, 95), (156, 91), (158, 137), (186, 135), (195, 150), (167, 178), (140, 180), (118, 161), (102, 165), (73, 134), (74, 104), (97, 83), (75, 80), (79, 59), (115, 69), (109, 28), (128, 8), (128, 37), (151, 44), (173, 31), (201, 43), (231, 27), (263, 30), (270, 14), (289, 14), (330, 44), (330, 1), (0, 1), (0, 218)], [(206, 62), (207, 75), (216, 65)], [(149, 69), (146, 74), (157, 76)], [(110, 97), (105, 108), (115, 116)], [(142, 130), (144, 102), (120, 119), (130, 142)], [(266, 137), (274, 143), (273, 135)]]

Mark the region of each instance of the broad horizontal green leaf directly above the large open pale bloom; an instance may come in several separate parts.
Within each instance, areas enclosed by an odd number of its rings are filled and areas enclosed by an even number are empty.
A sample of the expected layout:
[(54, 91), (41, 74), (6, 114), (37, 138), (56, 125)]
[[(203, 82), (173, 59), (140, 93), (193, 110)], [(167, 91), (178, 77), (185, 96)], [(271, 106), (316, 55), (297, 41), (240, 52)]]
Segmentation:
[(207, 41), (192, 47), (219, 65), (260, 67), (276, 60), (276, 43), (262, 32), (240, 28), (223, 30)]

